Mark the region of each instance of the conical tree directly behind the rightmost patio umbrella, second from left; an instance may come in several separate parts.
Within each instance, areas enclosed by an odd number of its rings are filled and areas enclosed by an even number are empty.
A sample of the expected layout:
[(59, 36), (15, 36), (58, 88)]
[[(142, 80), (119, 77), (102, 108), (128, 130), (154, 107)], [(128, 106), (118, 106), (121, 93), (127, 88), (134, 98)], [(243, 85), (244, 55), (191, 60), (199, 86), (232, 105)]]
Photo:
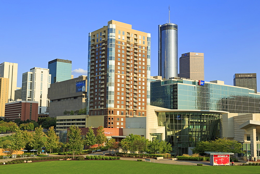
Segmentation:
[(33, 139), (30, 142), (30, 146), (37, 151), (40, 151), (44, 145), (43, 134), (44, 133), (42, 126), (35, 128), (35, 132), (33, 134)]

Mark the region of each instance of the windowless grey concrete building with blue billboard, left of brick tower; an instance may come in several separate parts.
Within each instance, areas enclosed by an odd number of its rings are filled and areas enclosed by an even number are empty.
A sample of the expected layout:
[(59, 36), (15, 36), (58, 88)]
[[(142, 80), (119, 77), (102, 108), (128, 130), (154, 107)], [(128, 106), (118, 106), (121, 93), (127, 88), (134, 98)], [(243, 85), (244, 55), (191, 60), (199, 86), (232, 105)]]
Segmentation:
[(87, 92), (86, 87), (83, 87), (86, 85), (87, 76), (51, 84), (48, 89), (48, 97), (50, 98), (49, 116), (63, 116), (65, 110), (77, 111), (86, 108)]

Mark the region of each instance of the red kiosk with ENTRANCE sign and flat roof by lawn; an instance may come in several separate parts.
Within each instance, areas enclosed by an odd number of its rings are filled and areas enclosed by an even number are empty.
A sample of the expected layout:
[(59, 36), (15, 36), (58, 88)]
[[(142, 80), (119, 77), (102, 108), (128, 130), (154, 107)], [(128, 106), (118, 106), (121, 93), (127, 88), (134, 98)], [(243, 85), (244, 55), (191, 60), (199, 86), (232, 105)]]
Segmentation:
[(219, 165), (230, 165), (229, 156), (234, 153), (229, 152), (205, 152), (210, 155), (210, 165), (219, 166)]

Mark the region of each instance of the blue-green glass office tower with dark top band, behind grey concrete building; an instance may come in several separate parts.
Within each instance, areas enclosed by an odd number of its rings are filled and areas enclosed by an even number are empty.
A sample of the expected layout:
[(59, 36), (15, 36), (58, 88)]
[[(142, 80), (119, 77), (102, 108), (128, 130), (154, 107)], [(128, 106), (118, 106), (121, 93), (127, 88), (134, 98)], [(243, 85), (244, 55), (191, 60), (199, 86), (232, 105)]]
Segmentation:
[(54, 59), (49, 61), (48, 69), (51, 74), (51, 84), (71, 79), (72, 61)]

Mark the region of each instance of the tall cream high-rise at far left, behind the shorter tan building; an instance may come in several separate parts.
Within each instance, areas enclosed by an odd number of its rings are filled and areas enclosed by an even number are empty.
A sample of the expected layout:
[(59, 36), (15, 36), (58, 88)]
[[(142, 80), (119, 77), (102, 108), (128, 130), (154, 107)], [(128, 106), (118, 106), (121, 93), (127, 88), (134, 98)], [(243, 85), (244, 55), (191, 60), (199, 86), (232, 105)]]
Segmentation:
[(0, 64), (0, 77), (9, 78), (8, 102), (15, 101), (15, 90), (17, 85), (17, 63), (3, 62)]

